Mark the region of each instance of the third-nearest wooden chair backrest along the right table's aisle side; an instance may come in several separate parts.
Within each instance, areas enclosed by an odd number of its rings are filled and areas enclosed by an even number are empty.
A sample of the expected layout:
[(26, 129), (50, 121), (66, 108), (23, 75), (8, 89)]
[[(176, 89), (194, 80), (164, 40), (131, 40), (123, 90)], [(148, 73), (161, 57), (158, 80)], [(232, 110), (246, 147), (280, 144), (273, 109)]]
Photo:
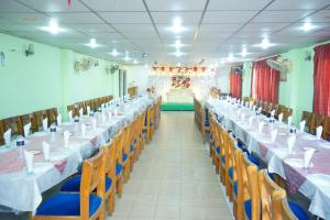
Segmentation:
[(257, 167), (249, 158), (241, 154), (241, 176), (243, 185), (244, 201), (251, 199), (251, 220), (260, 220), (260, 193), (257, 180)]

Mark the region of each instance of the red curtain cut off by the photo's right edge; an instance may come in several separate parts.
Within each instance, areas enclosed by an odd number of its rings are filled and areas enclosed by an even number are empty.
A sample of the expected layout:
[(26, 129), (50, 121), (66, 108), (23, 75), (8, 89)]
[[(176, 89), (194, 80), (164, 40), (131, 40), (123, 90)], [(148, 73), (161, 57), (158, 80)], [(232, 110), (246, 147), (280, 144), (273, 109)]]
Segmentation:
[(330, 44), (314, 48), (314, 112), (330, 114)]

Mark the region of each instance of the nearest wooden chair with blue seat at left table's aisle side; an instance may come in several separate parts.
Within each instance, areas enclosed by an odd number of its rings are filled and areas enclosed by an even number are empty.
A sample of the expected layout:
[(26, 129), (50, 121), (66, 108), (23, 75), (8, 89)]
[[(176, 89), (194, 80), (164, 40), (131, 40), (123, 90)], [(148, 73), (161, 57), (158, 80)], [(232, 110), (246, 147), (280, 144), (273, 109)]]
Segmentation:
[[(103, 220), (105, 219), (105, 167), (106, 154), (100, 151), (82, 164), (80, 193), (58, 193), (43, 201), (34, 220)], [(96, 190), (96, 195), (92, 193)]]

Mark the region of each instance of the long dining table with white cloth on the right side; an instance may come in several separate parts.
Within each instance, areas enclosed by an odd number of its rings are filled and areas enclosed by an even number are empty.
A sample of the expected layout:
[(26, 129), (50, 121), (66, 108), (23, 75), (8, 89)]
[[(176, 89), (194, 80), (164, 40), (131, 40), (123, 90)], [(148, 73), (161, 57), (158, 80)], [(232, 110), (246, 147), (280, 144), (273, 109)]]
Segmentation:
[[(330, 219), (330, 142), (306, 132), (293, 132), (292, 125), (257, 116), (252, 108), (229, 100), (209, 98), (205, 101), (218, 121), (240, 139), (250, 153), (267, 164), (270, 173), (276, 173), (287, 182), (292, 195), (300, 191), (310, 199), (309, 211), (322, 219)], [(262, 130), (260, 122), (264, 123)], [(277, 130), (276, 139), (272, 131)], [(287, 140), (296, 136), (293, 148)], [(314, 148), (310, 165), (304, 165), (304, 154)]]

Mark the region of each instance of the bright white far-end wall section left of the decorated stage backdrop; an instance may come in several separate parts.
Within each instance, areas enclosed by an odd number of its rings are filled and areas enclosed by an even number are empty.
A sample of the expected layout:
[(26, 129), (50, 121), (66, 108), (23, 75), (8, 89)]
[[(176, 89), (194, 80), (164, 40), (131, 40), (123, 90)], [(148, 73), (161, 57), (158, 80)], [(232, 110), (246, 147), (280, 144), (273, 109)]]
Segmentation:
[(144, 66), (128, 67), (128, 87), (134, 82), (139, 87), (139, 92), (144, 92), (148, 86), (147, 72), (148, 69)]

